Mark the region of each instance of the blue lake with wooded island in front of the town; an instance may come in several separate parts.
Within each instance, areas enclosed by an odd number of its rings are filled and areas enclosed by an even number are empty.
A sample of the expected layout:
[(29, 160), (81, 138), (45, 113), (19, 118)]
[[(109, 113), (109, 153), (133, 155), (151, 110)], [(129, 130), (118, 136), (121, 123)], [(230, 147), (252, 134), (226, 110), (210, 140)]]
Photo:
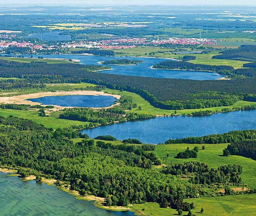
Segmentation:
[[(25, 55), (30, 57), (30, 55)], [(149, 57), (105, 57), (93, 55), (39, 55), (44, 58), (59, 58), (59, 59), (78, 59), (82, 64), (99, 64), (100, 61), (110, 59), (133, 59), (141, 60), (143, 63), (137, 65), (117, 66), (110, 65), (112, 70), (100, 71), (101, 73), (111, 73), (129, 76), (140, 77), (158, 77), (158, 78), (172, 78), (172, 79), (192, 79), (192, 80), (217, 80), (224, 76), (218, 75), (213, 72), (206, 71), (183, 71), (183, 70), (154, 70), (150, 66), (159, 62), (167, 61), (168, 59), (162, 58), (149, 58)], [(38, 55), (33, 55), (38, 57)], [(169, 59), (171, 60), (171, 59)]]

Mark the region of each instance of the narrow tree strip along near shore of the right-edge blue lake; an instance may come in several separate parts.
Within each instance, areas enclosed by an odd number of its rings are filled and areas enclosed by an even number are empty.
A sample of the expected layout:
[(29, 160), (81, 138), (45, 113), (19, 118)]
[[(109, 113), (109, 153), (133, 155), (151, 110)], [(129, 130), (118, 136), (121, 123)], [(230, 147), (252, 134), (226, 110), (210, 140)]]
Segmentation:
[(187, 137), (183, 139), (169, 139), (165, 144), (188, 143), (188, 144), (217, 144), (234, 143), (256, 139), (256, 130), (234, 130), (224, 134), (212, 134), (202, 137)]

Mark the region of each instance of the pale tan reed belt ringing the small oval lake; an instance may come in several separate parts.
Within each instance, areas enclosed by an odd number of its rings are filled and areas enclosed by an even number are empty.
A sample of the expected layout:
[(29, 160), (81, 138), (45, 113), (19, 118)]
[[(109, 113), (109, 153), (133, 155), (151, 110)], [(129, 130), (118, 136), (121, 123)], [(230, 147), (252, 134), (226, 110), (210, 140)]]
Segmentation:
[[(39, 92), (39, 93), (32, 93), (27, 95), (17, 95), (17, 96), (11, 96), (11, 97), (0, 97), (0, 103), (4, 104), (27, 104), (27, 105), (41, 105), (38, 102), (32, 102), (27, 99), (31, 98), (40, 98), (44, 96), (64, 96), (64, 95), (103, 95), (103, 96), (113, 96), (116, 99), (120, 99), (120, 95), (111, 95), (104, 93), (102, 91), (56, 91), (56, 92)], [(64, 108), (73, 108), (73, 107), (61, 107), (54, 104), (48, 104), (53, 105), (57, 110), (64, 109)], [(119, 105), (119, 103), (113, 104), (110, 107)], [(46, 106), (46, 105), (42, 105)], [(110, 107), (104, 107), (104, 108), (110, 108)], [(93, 109), (102, 109), (95, 107)]]

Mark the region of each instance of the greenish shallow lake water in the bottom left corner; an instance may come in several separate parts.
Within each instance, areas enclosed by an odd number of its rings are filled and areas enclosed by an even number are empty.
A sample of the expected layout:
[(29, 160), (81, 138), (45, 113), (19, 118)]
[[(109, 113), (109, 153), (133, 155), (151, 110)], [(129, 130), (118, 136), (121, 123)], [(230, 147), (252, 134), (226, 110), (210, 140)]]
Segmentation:
[(76, 200), (55, 186), (6, 177), (0, 172), (1, 216), (129, 216), (132, 212), (113, 212), (96, 208), (92, 202)]

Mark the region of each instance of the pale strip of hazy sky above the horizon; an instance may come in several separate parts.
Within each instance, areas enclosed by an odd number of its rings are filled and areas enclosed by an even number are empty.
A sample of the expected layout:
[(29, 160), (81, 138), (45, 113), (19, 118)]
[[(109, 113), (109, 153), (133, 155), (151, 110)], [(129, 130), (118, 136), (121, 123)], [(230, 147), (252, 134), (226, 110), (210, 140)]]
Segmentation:
[(31, 5), (254, 5), (255, 0), (0, 0), (5, 4)]

